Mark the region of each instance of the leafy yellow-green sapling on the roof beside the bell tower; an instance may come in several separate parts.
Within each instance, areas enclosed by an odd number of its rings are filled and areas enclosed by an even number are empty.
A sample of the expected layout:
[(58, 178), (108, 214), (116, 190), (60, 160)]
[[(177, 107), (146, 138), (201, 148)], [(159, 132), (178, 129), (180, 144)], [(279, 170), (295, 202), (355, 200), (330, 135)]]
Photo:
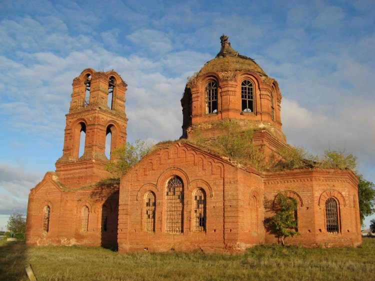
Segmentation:
[(137, 139), (134, 144), (126, 142), (112, 152), (114, 160), (110, 160), (104, 168), (115, 177), (120, 177), (152, 149), (153, 144), (149, 141)]

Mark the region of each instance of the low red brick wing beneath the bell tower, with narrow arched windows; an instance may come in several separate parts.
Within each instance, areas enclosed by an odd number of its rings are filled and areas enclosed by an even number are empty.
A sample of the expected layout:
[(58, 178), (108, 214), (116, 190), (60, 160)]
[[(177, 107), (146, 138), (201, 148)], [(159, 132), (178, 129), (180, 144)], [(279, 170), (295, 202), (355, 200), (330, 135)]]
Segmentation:
[[(49, 229), (43, 231), (43, 208), (50, 207)], [(101, 208), (108, 209), (107, 230), (102, 229)], [(88, 229), (82, 231), (82, 207), (87, 206)], [(117, 247), (118, 187), (83, 190), (60, 187), (55, 173), (46, 173), (29, 194), (26, 219), (27, 244), (85, 244)]]

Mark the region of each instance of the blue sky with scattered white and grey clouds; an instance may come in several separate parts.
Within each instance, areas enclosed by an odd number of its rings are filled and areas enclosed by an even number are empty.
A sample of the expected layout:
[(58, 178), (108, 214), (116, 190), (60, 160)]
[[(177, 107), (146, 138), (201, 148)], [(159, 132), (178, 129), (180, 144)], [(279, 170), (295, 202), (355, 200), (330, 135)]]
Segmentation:
[(127, 82), (129, 141), (176, 139), (186, 77), (222, 33), (277, 79), (289, 143), (353, 153), (375, 182), (374, 27), (372, 0), (1, 1), (0, 229), (55, 169), (84, 68)]

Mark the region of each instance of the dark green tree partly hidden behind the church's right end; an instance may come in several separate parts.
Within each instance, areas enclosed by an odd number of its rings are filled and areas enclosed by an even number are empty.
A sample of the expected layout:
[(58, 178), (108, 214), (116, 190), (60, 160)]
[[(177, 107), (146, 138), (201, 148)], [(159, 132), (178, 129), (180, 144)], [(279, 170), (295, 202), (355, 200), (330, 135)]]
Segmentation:
[(358, 175), (358, 180), (359, 216), (360, 224), (363, 224), (364, 217), (375, 212), (375, 184), (365, 180), (361, 174)]

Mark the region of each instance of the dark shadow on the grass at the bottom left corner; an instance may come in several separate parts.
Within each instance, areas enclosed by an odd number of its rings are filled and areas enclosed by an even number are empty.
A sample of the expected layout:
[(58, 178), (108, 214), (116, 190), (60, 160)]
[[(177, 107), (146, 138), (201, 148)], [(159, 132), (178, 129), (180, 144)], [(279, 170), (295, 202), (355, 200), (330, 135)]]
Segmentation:
[(0, 244), (0, 280), (27, 280), (25, 241)]

